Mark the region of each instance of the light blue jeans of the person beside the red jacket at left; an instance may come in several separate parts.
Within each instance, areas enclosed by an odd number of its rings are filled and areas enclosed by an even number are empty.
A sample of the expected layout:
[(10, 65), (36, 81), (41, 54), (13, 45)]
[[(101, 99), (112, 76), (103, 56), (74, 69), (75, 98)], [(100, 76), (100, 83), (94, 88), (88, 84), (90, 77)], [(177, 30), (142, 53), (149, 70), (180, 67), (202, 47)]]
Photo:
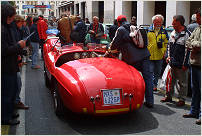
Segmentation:
[(37, 60), (39, 56), (39, 43), (37, 42), (31, 42), (32, 45), (32, 67), (35, 67), (37, 65)]

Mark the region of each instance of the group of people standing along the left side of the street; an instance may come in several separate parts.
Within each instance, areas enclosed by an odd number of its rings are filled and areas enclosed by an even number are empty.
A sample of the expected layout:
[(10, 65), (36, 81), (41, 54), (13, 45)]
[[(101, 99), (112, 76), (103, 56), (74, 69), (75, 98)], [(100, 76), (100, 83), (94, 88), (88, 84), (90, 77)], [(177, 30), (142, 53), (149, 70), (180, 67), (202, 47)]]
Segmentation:
[(28, 16), (25, 20), (9, 3), (2, 3), (1, 15), (1, 123), (17, 125), (20, 123), (16, 120), (17, 109), (29, 109), (20, 98), (21, 67), (31, 60), (31, 68), (40, 69), (38, 52), (39, 47), (43, 50), (48, 25), (41, 15), (33, 19)]

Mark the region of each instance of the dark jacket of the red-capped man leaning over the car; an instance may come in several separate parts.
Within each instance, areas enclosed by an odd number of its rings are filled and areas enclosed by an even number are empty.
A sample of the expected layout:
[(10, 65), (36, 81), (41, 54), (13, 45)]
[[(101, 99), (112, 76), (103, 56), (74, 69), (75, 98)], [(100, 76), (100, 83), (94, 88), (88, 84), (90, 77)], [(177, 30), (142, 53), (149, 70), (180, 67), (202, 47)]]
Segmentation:
[[(117, 34), (112, 41), (111, 49), (118, 49), (122, 53), (122, 60), (127, 64), (133, 65), (138, 61), (142, 61), (150, 56), (147, 48), (136, 48), (129, 36), (130, 24), (124, 22), (117, 30)], [(128, 30), (127, 30), (127, 29)]]

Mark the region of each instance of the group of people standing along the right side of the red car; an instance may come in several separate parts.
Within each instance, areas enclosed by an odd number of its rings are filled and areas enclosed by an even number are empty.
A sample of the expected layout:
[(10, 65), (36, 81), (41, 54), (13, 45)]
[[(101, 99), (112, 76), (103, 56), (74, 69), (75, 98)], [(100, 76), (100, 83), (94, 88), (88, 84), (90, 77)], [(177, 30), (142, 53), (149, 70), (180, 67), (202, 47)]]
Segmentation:
[[(197, 25), (184, 25), (182, 15), (173, 16), (174, 30), (168, 33), (162, 24), (164, 17), (152, 17), (152, 25), (148, 29), (148, 45), (146, 48), (137, 48), (130, 37), (131, 24), (126, 16), (117, 17), (118, 29), (110, 44), (110, 50), (122, 53), (122, 60), (141, 71), (146, 89), (144, 105), (148, 108), (154, 106), (153, 92), (157, 91), (158, 79), (162, 69), (163, 60), (171, 67), (171, 80), (166, 84), (166, 95), (161, 102), (172, 102), (177, 90), (178, 101), (176, 106), (185, 105), (188, 86), (188, 70), (191, 71), (192, 101), (189, 113), (184, 118), (197, 118), (196, 124), (201, 124), (201, 10), (196, 12)], [(133, 24), (135, 24), (133, 22)], [(190, 32), (188, 28), (194, 30)]]

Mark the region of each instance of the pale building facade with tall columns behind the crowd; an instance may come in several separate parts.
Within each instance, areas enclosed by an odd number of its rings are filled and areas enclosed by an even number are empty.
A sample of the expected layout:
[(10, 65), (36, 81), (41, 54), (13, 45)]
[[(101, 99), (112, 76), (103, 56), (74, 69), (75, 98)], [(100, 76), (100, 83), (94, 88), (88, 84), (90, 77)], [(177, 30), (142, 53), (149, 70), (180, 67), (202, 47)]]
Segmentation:
[[(70, 1), (69, 1), (70, 2)], [(104, 0), (90, 1), (77, 0), (59, 7), (60, 13), (70, 12), (72, 15), (80, 15), (82, 18), (98, 16), (104, 23), (112, 23), (117, 16), (126, 15), (128, 21), (132, 16), (137, 17), (137, 25), (151, 24), (152, 16), (162, 14), (165, 18), (164, 25), (172, 25), (172, 17), (176, 14), (185, 17), (185, 25), (190, 23), (191, 15), (201, 7), (201, 1), (126, 1)]]

